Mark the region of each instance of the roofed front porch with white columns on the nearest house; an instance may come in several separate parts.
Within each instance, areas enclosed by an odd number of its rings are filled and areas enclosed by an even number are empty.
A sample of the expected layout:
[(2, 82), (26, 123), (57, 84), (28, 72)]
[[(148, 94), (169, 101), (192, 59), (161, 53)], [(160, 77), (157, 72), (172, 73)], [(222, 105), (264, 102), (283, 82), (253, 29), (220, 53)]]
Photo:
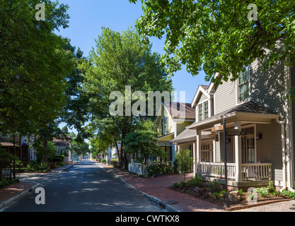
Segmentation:
[[(277, 123), (278, 115), (248, 105), (187, 126), (197, 133), (194, 172), (206, 180), (224, 182), (226, 157), (228, 185), (260, 186), (273, 180), (279, 186), (282, 181), (282, 126)], [(204, 132), (212, 134), (212, 141), (204, 141)]]

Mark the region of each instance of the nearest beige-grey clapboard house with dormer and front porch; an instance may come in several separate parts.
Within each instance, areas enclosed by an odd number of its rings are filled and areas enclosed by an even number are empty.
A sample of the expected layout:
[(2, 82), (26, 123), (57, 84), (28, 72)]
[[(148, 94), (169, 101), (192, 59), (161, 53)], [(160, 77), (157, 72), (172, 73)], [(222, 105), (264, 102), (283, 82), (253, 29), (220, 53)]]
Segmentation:
[(294, 188), (295, 103), (285, 98), (293, 86), (294, 68), (279, 62), (262, 71), (261, 60), (236, 81), (199, 85), (192, 100), (196, 120), (173, 143), (192, 145), (194, 172), (206, 180), (224, 177), (226, 145), (229, 186), (262, 186), (273, 180), (281, 189)]

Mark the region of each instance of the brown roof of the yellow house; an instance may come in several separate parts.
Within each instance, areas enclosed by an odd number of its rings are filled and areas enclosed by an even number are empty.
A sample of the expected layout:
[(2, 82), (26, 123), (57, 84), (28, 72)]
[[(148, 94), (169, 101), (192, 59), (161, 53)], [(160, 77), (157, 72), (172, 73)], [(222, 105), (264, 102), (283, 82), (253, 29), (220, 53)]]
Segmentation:
[[(191, 107), (190, 103), (167, 102), (163, 101), (163, 106), (173, 119), (195, 119), (195, 107)], [(179, 117), (176, 112), (180, 111), (180, 104), (185, 105), (185, 117)], [(180, 116), (183, 114), (181, 112)]]

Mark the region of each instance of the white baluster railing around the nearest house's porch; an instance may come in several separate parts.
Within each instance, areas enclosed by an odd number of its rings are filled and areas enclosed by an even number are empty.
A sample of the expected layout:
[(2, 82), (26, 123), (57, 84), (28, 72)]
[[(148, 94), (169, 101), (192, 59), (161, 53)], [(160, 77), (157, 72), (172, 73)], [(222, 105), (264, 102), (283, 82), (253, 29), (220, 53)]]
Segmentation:
[[(236, 164), (226, 163), (227, 178), (236, 179)], [(224, 177), (224, 162), (199, 162), (198, 172), (209, 177)], [(272, 163), (243, 163), (242, 180), (272, 179)]]

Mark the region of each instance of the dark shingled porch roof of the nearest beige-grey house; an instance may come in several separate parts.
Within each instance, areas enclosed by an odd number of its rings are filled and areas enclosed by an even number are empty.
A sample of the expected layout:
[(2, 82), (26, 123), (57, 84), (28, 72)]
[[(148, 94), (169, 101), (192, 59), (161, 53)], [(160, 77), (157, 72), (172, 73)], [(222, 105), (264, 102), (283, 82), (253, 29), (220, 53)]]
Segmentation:
[(224, 112), (220, 112), (218, 114), (214, 114), (212, 117), (209, 117), (207, 119), (204, 119), (202, 121), (196, 121), (190, 126), (187, 126), (187, 129), (193, 129), (199, 125), (207, 124), (212, 121), (216, 121), (221, 119), (221, 117), (227, 117), (230, 114), (234, 114), (237, 112), (241, 113), (255, 113), (255, 114), (264, 114), (264, 115), (275, 115), (275, 117), (278, 117), (278, 114), (271, 111), (270, 109), (266, 109), (265, 107), (262, 107), (261, 105), (256, 104), (255, 102), (248, 101), (241, 105), (238, 105), (236, 107), (232, 107), (231, 109), (227, 109)]

